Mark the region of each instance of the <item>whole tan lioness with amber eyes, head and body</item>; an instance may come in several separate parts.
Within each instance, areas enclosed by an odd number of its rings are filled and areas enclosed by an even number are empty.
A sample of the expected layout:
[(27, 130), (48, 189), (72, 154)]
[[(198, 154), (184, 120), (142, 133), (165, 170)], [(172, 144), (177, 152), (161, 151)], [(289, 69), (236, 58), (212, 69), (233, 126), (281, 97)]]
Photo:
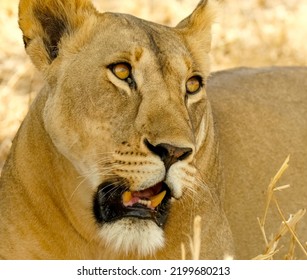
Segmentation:
[(307, 72), (237, 70), (207, 85), (214, 9), (200, 1), (170, 28), (98, 13), (87, 0), (20, 2), (26, 51), (46, 85), (2, 172), (0, 257), (178, 259), (196, 215), (200, 258), (261, 253), (259, 178), (272, 176), (280, 148), (267, 142), (270, 108), (293, 115), (274, 125), (300, 135), (291, 147), (306, 166)]

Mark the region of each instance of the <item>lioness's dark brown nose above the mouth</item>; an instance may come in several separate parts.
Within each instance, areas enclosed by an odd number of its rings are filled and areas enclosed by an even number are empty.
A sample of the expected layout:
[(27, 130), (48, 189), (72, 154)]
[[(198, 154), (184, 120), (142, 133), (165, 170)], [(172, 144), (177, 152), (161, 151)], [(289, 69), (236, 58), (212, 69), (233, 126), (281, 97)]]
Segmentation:
[(176, 147), (167, 143), (161, 143), (155, 146), (152, 145), (147, 139), (145, 139), (144, 142), (151, 152), (161, 158), (161, 160), (164, 162), (166, 170), (168, 170), (175, 162), (186, 159), (193, 152), (191, 148), (187, 147)]

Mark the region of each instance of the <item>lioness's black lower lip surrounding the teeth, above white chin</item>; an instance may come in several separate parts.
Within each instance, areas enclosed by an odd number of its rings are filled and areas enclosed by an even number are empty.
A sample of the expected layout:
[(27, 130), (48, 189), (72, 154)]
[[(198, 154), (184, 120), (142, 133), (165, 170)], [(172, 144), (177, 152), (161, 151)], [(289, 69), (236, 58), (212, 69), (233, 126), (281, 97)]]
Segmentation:
[(99, 185), (94, 196), (93, 211), (98, 223), (110, 223), (126, 217), (153, 220), (159, 227), (166, 223), (169, 209), (171, 192), (163, 182), (163, 189), (166, 195), (160, 205), (155, 209), (150, 209), (142, 204), (124, 206), (122, 194), (127, 190), (114, 182), (104, 182)]

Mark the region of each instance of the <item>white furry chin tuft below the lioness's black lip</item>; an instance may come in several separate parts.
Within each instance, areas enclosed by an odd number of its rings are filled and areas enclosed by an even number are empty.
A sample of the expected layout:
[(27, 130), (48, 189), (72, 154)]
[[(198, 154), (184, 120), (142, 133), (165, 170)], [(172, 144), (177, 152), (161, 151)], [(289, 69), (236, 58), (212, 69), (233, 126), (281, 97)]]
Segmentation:
[(139, 258), (152, 256), (164, 246), (164, 232), (151, 220), (123, 218), (104, 224), (100, 236), (110, 250)]

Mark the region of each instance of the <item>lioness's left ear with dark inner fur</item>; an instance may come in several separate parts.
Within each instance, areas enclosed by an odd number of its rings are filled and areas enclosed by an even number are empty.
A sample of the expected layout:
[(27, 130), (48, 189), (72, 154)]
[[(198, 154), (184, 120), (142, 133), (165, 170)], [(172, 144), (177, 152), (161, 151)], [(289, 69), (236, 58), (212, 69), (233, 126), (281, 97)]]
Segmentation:
[(43, 70), (58, 56), (61, 40), (96, 14), (89, 0), (21, 0), (19, 26), (27, 53)]

